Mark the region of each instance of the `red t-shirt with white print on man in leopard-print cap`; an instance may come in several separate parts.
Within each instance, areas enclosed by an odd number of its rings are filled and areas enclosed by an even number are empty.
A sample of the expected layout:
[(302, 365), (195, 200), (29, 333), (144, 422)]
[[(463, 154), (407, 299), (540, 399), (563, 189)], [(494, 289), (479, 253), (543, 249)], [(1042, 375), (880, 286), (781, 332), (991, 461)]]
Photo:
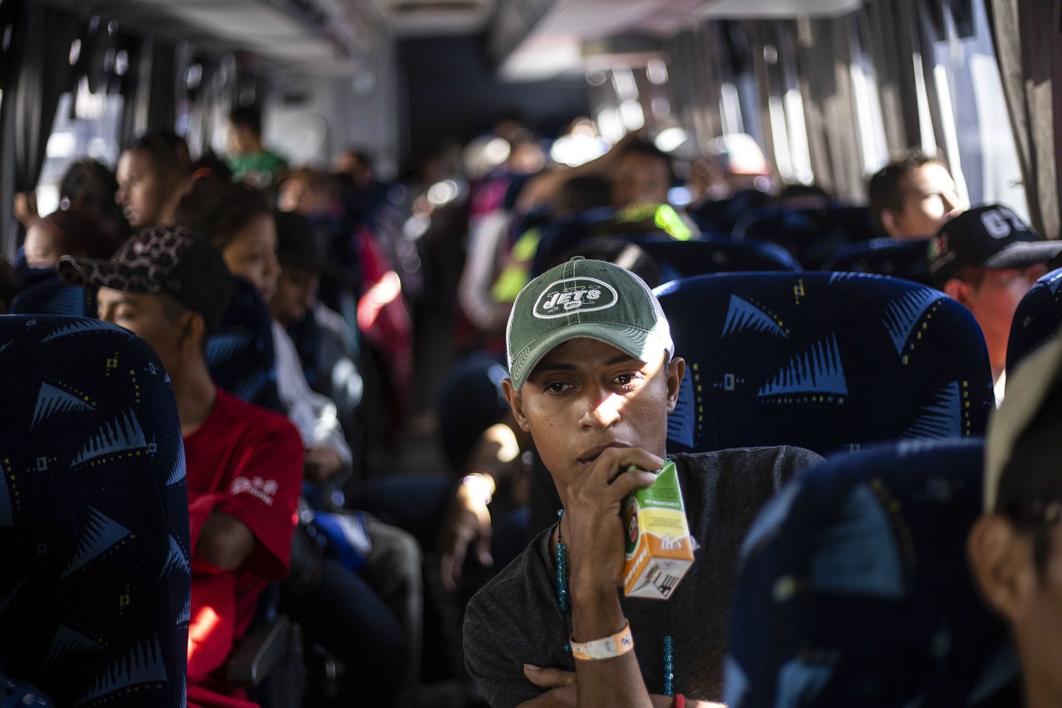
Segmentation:
[[(219, 390), (210, 416), (185, 438), (185, 466), (193, 549), (191, 685), (224, 663), (233, 642), (246, 632), (262, 588), (288, 572), (303, 484), (303, 442), (284, 416)], [(236, 572), (196, 567), (195, 543), (211, 511), (236, 517), (257, 540)]]

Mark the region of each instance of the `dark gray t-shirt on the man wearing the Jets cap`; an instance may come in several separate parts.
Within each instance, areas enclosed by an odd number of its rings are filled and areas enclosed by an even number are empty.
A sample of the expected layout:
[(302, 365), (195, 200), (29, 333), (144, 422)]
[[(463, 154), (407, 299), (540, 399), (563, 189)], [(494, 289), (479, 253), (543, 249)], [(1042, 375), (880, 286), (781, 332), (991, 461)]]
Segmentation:
[[(802, 448), (770, 447), (671, 460), (700, 548), (669, 600), (621, 598), (620, 604), (650, 693), (664, 693), (664, 637), (671, 635), (674, 692), (720, 701), (730, 595), (746, 532), (790, 477), (822, 459)], [(525, 677), (525, 663), (575, 670), (564, 650), (571, 615), (556, 604), (551, 536), (552, 529), (538, 534), (468, 604), (465, 663), (493, 708), (512, 708), (544, 692)]]

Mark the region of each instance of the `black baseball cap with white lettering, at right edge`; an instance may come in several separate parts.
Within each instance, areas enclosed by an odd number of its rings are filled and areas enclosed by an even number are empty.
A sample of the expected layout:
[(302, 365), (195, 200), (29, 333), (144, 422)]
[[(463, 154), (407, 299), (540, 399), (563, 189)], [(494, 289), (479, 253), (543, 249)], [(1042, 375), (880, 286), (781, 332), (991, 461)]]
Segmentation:
[(991, 204), (952, 219), (929, 240), (929, 275), (938, 288), (963, 267), (1018, 269), (1046, 263), (1062, 253), (1062, 241), (1045, 241), (1017, 214)]

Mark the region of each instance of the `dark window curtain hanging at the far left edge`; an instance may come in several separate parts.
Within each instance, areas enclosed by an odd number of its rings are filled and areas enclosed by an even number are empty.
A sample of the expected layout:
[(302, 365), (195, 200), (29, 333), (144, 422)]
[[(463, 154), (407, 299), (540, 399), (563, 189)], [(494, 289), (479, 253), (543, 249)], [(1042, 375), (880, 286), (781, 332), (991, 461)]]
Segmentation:
[(74, 16), (35, 2), (23, 6), (14, 28), (11, 51), (20, 62), (0, 107), (5, 166), (0, 179), (0, 227), (8, 257), (22, 236), (15, 220), (14, 196), (37, 187), (59, 97), (70, 88), (70, 45), (79, 30)]

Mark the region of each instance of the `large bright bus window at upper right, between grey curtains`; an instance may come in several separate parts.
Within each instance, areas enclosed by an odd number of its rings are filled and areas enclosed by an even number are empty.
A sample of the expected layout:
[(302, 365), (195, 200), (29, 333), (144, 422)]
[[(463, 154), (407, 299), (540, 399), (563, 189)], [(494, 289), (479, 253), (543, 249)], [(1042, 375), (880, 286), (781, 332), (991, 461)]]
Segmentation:
[[(971, 204), (1006, 204), (1028, 221), (1022, 169), (984, 2), (973, 0), (972, 6), (972, 23), (956, 22), (949, 5), (943, 7), (942, 28), (923, 17), (924, 30), (935, 36), (933, 54), (925, 62), (926, 80), (936, 85), (943, 127), (937, 140), (960, 195), (964, 185)], [(939, 36), (940, 30), (945, 36)]]

